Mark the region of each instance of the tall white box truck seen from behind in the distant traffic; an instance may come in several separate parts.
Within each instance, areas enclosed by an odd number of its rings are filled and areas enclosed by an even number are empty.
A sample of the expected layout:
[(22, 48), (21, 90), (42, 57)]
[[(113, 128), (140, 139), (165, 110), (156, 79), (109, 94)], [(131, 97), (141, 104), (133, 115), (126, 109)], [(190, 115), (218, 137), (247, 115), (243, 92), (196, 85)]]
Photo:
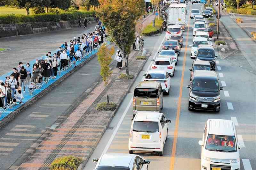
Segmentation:
[(171, 4), (169, 7), (168, 25), (180, 25), (183, 30), (186, 28), (186, 5)]

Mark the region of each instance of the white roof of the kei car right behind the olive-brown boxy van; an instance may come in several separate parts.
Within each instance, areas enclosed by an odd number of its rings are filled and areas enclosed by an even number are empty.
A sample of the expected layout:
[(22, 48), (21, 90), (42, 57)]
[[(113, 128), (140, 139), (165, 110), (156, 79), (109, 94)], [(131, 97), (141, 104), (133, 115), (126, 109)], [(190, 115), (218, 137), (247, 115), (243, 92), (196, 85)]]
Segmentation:
[(134, 118), (134, 121), (158, 122), (161, 115), (163, 114), (159, 112), (138, 112)]

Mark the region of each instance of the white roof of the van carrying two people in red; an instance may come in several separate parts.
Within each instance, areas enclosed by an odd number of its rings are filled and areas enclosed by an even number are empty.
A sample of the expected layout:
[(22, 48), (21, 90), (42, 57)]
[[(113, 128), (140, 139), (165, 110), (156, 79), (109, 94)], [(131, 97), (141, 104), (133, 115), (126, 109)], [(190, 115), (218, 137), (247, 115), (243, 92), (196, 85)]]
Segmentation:
[(208, 119), (209, 134), (234, 136), (233, 121), (225, 119)]

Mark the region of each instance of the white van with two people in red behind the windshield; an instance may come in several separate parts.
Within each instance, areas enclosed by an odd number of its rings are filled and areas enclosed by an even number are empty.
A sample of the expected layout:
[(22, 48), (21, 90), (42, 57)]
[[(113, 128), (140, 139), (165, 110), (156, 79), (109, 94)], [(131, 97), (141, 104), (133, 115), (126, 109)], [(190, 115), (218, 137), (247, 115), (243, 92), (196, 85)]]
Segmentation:
[(239, 149), (235, 123), (231, 120), (208, 119), (201, 145), (201, 170), (239, 170)]

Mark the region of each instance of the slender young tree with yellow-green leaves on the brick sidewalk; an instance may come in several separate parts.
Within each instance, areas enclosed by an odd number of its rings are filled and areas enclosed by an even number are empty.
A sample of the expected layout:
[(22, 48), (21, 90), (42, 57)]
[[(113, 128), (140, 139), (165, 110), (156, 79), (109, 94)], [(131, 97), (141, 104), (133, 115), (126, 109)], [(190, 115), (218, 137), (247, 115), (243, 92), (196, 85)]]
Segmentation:
[(105, 85), (105, 91), (106, 91), (106, 97), (107, 97), (107, 105), (109, 104), (109, 97), (108, 97), (108, 81), (109, 78), (112, 76), (112, 71), (109, 68), (109, 64), (112, 61), (112, 55), (114, 54), (115, 49), (112, 47), (111, 49), (108, 49), (106, 44), (102, 44), (100, 49), (98, 50), (98, 61), (100, 63), (100, 76), (102, 77), (102, 80)]

